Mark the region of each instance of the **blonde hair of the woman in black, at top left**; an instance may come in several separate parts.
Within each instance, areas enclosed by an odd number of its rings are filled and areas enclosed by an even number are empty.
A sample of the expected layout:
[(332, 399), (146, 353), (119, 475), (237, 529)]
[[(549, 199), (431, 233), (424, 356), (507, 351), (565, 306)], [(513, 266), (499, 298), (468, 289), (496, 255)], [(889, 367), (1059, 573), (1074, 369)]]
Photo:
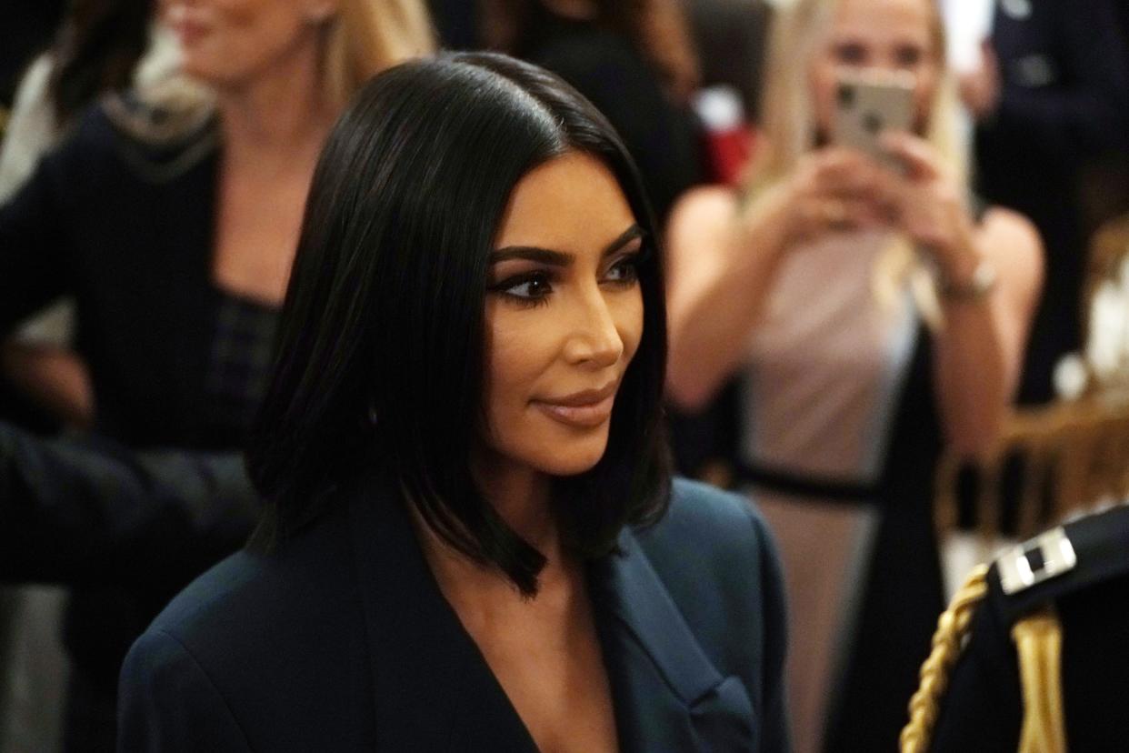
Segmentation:
[(338, 107), (376, 73), (436, 49), (423, 0), (340, 0), (326, 24), (325, 90)]

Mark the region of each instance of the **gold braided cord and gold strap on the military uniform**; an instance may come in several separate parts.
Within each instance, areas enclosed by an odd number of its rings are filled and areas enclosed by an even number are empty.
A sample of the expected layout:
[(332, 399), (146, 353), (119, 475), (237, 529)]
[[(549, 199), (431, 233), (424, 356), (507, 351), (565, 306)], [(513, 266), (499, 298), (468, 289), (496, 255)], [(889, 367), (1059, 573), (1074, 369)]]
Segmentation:
[[(988, 566), (978, 566), (937, 621), (933, 650), (921, 665), (921, 684), (910, 699), (910, 720), (902, 729), (901, 753), (925, 753), (948, 676), (971, 630), (977, 606), (988, 593)], [(1066, 753), (1062, 706), (1062, 627), (1050, 606), (1023, 618), (1012, 628), (1019, 659), (1023, 727), (1018, 753)]]

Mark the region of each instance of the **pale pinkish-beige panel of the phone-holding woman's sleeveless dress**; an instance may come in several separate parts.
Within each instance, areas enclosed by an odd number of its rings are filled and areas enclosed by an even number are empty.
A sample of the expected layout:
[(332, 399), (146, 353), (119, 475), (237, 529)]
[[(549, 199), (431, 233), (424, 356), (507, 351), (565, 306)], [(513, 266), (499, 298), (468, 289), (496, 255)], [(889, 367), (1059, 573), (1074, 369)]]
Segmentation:
[(889, 243), (852, 231), (791, 249), (749, 343), (739, 452), (786, 567), (797, 753), (819, 750), (877, 519), (865, 496), (820, 489), (878, 481), (919, 332), (908, 294), (883, 306), (873, 292)]

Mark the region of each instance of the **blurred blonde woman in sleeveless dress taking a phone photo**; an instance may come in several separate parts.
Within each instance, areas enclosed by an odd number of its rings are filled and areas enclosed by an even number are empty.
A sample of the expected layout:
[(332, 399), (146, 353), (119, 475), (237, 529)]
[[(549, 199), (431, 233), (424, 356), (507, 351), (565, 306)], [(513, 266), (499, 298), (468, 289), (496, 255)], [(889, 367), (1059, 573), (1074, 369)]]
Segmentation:
[[(824, 720), (830, 750), (896, 744), (944, 603), (933, 467), (998, 431), (1041, 287), (1030, 222), (970, 196), (944, 51), (931, 0), (798, 0), (744, 190), (693, 192), (669, 224), (669, 393), (694, 409), (741, 380), (737, 466), (789, 573), (800, 751)], [(855, 75), (912, 81), (882, 159), (834, 140)]]

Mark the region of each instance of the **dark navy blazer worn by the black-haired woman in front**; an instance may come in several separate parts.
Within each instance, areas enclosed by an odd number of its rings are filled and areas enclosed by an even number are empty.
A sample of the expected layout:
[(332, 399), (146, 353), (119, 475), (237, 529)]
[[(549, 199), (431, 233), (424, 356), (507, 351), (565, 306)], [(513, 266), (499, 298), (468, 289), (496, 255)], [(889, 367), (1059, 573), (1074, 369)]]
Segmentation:
[[(270, 555), (201, 576), (122, 668), (122, 751), (535, 751), (368, 480)], [(677, 481), (587, 572), (623, 751), (781, 751), (779, 564), (749, 502)]]

